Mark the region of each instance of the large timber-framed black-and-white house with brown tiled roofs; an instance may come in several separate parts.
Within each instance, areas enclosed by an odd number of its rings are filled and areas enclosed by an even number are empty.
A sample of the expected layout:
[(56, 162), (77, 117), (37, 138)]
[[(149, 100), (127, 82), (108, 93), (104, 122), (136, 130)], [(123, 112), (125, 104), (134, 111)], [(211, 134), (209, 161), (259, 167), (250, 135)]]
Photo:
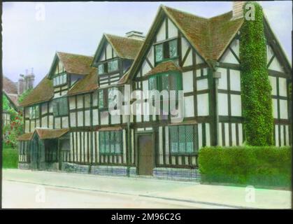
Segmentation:
[[(206, 19), (160, 6), (145, 37), (103, 34), (94, 57), (57, 52), (21, 104), (20, 168), (196, 179), (200, 148), (245, 141), (238, 9), (235, 2), (234, 10)], [(274, 142), (287, 146), (291, 66), (266, 19), (264, 28)], [(171, 114), (111, 115), (109, 104), (117, 99), (108, 92), (126, 85), (183, 90), (183, 121), (172, 123)], [(138, 110), (148, 109), (146, 100)]]

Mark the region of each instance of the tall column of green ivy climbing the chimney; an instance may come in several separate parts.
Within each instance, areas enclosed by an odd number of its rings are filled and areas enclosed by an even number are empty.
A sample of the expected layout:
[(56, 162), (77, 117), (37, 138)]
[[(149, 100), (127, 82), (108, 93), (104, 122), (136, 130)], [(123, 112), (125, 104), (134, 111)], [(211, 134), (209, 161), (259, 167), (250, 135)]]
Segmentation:
[[(241, 97), (245, 141), (250, 146), (271, 146), (273, 145), (273, 108), (269, 73), (266, 68), (264, 14), (258, 3), (248, 3), (255, 6), (255, 20), (244, 19), (240, 31)], [(245, 6), (243, 10), (245, 15), (248, 10)]]

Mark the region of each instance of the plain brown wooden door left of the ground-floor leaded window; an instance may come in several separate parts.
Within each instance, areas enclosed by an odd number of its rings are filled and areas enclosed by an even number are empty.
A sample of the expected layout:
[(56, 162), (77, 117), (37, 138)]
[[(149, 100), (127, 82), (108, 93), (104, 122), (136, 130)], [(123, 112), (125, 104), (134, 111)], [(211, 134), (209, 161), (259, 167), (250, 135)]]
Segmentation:
[(154, 168), (152, 134), (138, 136), (138, 174), (152, 175)]

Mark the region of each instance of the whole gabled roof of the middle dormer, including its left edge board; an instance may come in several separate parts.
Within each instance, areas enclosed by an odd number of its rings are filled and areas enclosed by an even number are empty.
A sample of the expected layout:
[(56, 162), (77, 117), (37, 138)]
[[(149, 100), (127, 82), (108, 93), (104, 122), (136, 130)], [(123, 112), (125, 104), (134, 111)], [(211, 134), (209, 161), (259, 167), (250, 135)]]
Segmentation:
[(116, 36), (113, 34), (103, 34), (103, 37), (101, 38), (98, 48), (94, 54), (94, 62), (96, 62), (99, 55), (101, 55), (103, 45), (106, 41), (110, 43), (112, 48), (115, 50), (116, 55), (124, 59), (134, 59), (143, 45), (142, 40), (135, 38)]

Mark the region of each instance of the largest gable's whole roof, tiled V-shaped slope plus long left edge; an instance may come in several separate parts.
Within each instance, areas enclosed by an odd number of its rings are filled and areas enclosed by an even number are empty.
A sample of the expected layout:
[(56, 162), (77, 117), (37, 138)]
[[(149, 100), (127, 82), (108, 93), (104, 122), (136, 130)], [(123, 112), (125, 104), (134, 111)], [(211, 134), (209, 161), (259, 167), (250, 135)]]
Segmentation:
[(157, 29), (159, 29), (160, 22), (162, 22), (165, 16), (176, 25), (194, 50), (209, 63), (210, 61), (220, 59), (224, 50), (226, 50), (243, 24), (243, 18), (232, 20), (232, 15), (232, 11), (230, 11), (213, 18), (201, 18), (174, 8), (160, 6), (155, 21), (150, 27), (145, 42), (129, 69), (129, 73), (127, 76), (122, 77), (123, 82), (126, 83), (129, 78), (132, 78), (139, 66), (141, 66), (149, 46), (157, 33)]

